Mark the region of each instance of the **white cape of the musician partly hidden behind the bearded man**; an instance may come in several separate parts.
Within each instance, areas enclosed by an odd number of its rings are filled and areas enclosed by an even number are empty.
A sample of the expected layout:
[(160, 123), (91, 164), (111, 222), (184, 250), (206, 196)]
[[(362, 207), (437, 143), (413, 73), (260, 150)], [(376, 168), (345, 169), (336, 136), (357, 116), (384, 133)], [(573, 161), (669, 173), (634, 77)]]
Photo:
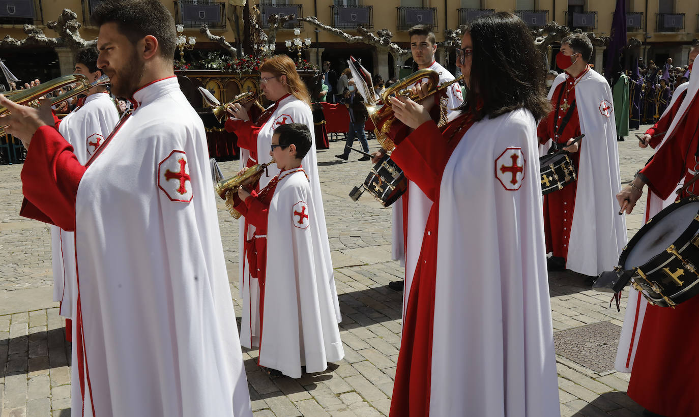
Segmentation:
[[(90, 94), (85, 103), (61, 120), (58, 131), (72, 146), (78, 161), (87, 159), (119, 122), (119, 112), (109, 94)], [(88, 143), (90, 145), (88, 145)], [(89, 151), (88, 151), (89, 148)], [(79, 220), (78, 220), (79, 221)], [(75, 312), (75, 234), (51, 226), (53, 300), (61, 302), (60, 314), (74, 319)]]

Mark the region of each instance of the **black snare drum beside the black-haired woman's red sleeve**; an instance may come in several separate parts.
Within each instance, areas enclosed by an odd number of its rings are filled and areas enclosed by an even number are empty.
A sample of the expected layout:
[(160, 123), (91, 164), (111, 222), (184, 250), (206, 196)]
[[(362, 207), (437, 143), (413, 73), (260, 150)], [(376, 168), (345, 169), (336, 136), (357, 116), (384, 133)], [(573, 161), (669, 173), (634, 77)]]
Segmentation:
[(384, 155), (367, 175), (364, 184), (355, 186), (349, 197), (356, 201), (363, 191), (369, 191), (384, 207), (389, 207), (408, 189), (408, 180), (403, 170), (396, 165), (389, 155)]

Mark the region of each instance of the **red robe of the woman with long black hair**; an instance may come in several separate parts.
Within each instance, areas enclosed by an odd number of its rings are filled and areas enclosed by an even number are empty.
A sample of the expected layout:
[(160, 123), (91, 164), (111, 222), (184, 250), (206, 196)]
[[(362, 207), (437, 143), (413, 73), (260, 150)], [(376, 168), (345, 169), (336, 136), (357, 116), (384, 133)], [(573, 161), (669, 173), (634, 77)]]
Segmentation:
[(434, 122), (425, 122), (405, 139), (396, 138), (396, 149), (391, 153), (391, 159), (433, 201), (403, 320), (391, 417), (429, 414), (431, 362), (428, 358), (432, 356), (440, 183), (452, 152), (470, 124), (448, 142), (446, 138), (459, 128), (465, 117), (456, 117), (444, 126), (443, 136)]

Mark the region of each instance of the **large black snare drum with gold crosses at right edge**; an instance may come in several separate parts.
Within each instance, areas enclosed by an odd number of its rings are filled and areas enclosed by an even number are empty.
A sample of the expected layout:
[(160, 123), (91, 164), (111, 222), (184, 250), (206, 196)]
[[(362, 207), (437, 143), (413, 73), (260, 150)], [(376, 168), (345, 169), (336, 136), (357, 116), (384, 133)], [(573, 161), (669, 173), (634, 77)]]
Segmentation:
[(652, 304), (674, 307), (699, 293), (699, 198), (677, 201), (656, 214), (621, 252), (617, 271), (631, 272), (633, 288)]

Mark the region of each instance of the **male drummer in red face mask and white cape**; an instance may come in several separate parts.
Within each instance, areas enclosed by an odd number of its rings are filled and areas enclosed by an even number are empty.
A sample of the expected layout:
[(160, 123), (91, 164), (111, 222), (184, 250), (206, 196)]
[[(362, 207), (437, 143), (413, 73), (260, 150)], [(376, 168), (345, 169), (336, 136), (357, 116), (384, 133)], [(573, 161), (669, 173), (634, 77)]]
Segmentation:
[[(544, 196), (549, 270), (596, 276), (616, 265), (626, 223), (614, 201), (621, 184), (612, 91), (587, 64), (592, 52), (582, 34), (561, 41), (556, 65), (565, 72), (549, 91), (554, 109), (540, 122), (538, 136), (544, 150), (552, 144), (568, 150), (577, 172), (576, 182)], [(584, 139), (571, 145), (580, 134)]]

